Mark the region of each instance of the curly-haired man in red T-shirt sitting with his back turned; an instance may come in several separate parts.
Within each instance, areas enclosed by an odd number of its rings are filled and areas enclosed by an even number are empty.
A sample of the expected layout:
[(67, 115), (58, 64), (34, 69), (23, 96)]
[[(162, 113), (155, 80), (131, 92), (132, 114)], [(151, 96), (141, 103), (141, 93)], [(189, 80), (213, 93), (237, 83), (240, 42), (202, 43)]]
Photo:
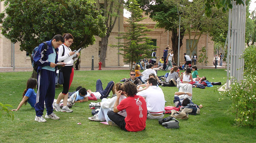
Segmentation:
[[(125, 131), (138, 132), (144, 130), (147, 120), (147, 103), (145, 99), (136, 95), (137, 88), (132, 82), (124, 83), (123, 89), (123, 91), (116, 91), (117, 99), (114, 104), (114, 111), (108, 111), (109, 119)], [(123, 99), (118, 105), (122, 93), (127, 98)], [(127, 117), (118, 114), (119, 111), (124, 109)], [(113, 124), (111, 121), (109, 121), (110, 125)]]

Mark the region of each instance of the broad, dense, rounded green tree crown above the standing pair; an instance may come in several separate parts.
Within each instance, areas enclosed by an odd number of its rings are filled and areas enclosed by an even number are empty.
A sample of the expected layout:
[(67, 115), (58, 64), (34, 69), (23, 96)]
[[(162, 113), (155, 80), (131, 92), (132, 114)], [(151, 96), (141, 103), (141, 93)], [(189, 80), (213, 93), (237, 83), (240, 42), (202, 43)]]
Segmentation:
[(30, 54), (56, 34), (71, 33), (72, 50), (94, 44), (94, 36), (106, 35), (105, 19), (90, 0), (5, 0), (4, 6), (2, 34)]

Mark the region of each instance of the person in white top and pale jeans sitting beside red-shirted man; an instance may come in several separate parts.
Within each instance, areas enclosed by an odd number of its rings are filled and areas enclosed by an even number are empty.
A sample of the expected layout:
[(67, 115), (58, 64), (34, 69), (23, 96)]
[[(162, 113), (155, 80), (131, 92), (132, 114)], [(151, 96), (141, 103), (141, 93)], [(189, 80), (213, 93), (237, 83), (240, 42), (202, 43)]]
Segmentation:
[[(119, 91), (119, 90), (123, 90), (122, 83), (116, 83), (115, 91)], [(121, 100), (123, 100), (125, 98), (126, 97), (124, 96), (124, 94), (121, 94), (119, 102), (121, 102)], [(103, 98), (100, 102), (100, 111), (97, 114), (95, 114), (94, 116), (89, 117), (88, 119), (91, 121), (106, 121), (109, 123), (109, 125), (113, 125), (113, 122), (109, 119), (109, 116), (107, 115), (107, 113), (108, 113), (108, 111), (113, 110), (116, 99), (117, 99), (117, 96), (112, 97), (112, 98)], [(118, 114), (120, 114), (124, 117), (127, 116), (125, 110), (118, 112)]]

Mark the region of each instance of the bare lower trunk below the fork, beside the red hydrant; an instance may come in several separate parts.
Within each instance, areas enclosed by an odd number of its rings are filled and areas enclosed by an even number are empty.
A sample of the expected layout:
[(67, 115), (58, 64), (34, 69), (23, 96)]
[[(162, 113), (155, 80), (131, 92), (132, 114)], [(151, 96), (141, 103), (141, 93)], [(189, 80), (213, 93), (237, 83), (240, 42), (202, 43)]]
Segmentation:
[(102, 63), (101, 67), (106, 67), (106, 52), (108, 47), (110, 33), (107, 32), (106, 36), (101, 38), (101, 50), (100, 50), (100, 62)]

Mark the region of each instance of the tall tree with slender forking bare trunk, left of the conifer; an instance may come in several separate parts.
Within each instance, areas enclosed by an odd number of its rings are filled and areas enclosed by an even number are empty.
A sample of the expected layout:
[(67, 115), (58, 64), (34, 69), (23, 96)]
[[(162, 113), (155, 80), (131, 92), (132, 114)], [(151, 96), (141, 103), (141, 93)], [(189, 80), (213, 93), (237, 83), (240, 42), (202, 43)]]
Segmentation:
[(107, 28), (106, 35), (101, 38), (100, 61), (102, 62), (102, 67), (106, 66), (105, 60), (109, 36), (119, 17), (120, 11), (123, 10), (122, 4), (123, 0), (104, 0), (104, 3), (100, 3), (100, 0), (97, 0), (97, 3), (95, 3), (105, 18), (105, 26)]

